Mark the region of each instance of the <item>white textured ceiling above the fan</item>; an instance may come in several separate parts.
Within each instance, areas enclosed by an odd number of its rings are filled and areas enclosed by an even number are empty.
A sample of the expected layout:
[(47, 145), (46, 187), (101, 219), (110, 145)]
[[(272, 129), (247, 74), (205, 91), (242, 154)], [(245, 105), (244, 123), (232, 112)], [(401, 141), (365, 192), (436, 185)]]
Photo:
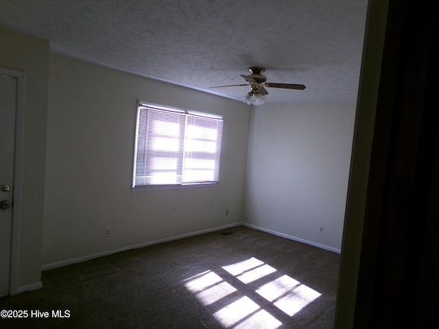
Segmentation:
[(267, 103), (355, 100), (367, 0), (0, 0), (0, 25), (76, 58), (241, 99), (265, 67)]

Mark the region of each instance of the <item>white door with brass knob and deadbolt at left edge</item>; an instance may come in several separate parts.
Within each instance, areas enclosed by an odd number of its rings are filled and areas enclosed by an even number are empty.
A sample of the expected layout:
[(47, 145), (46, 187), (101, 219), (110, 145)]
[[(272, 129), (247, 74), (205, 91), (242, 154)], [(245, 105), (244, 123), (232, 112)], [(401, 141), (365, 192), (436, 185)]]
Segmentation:
[(0, 296), (9, 295), (16, 78), (0, 75)]

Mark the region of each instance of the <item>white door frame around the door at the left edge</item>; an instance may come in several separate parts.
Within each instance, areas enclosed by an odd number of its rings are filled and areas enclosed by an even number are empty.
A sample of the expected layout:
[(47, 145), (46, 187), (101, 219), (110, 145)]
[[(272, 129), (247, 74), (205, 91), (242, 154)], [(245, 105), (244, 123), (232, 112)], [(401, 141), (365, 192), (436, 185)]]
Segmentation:
[(0, 67), (0, 75), (13, 77), (16, 80), (15, 107), (15, 147), (14, 147), (14, 178), (12, 193), (12, 230), (9, 294), (19, 293), (19, 256), (21, 230), (21, 191), (23, 184), (23, 154), (24, 154), (24, 122), (25, 122), (25, 86), (26, 73)]

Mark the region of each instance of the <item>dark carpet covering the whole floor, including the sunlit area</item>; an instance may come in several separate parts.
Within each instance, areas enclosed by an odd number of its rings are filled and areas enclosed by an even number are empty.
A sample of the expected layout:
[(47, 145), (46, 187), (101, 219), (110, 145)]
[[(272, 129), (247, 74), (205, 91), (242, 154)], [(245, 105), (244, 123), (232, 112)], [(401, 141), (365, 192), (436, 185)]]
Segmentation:
[(239, 226), (44, 271), (0, 328), (333, 328), (339, 262)]

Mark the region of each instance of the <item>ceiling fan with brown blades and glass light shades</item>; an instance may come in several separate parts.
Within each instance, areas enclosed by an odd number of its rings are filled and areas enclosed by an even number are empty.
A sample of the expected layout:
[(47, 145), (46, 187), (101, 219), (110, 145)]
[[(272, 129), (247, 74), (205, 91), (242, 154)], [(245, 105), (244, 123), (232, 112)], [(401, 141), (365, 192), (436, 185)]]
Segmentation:
[(229, 84), (227, 86), (215, 86), (211, 88), (233, 87), (233, 86), (250, 86), (252, 90), (244, 97), (244, 102), (252, 105), (260, 105), (265, 102), (265, 95), (268, 95), (268, 91), (264, 87), (269, 88), (285, 88), (285, 89), (297, 89), (303, 90), (306, 87), (303, 84), (278, 84), (274, 82), (266, 82), (267, 78), (262, 75), (265, 71), (263, 67), (251, 66), (248, 68), (250, 75), (242, 75), (244, 80), (248, 84)]

